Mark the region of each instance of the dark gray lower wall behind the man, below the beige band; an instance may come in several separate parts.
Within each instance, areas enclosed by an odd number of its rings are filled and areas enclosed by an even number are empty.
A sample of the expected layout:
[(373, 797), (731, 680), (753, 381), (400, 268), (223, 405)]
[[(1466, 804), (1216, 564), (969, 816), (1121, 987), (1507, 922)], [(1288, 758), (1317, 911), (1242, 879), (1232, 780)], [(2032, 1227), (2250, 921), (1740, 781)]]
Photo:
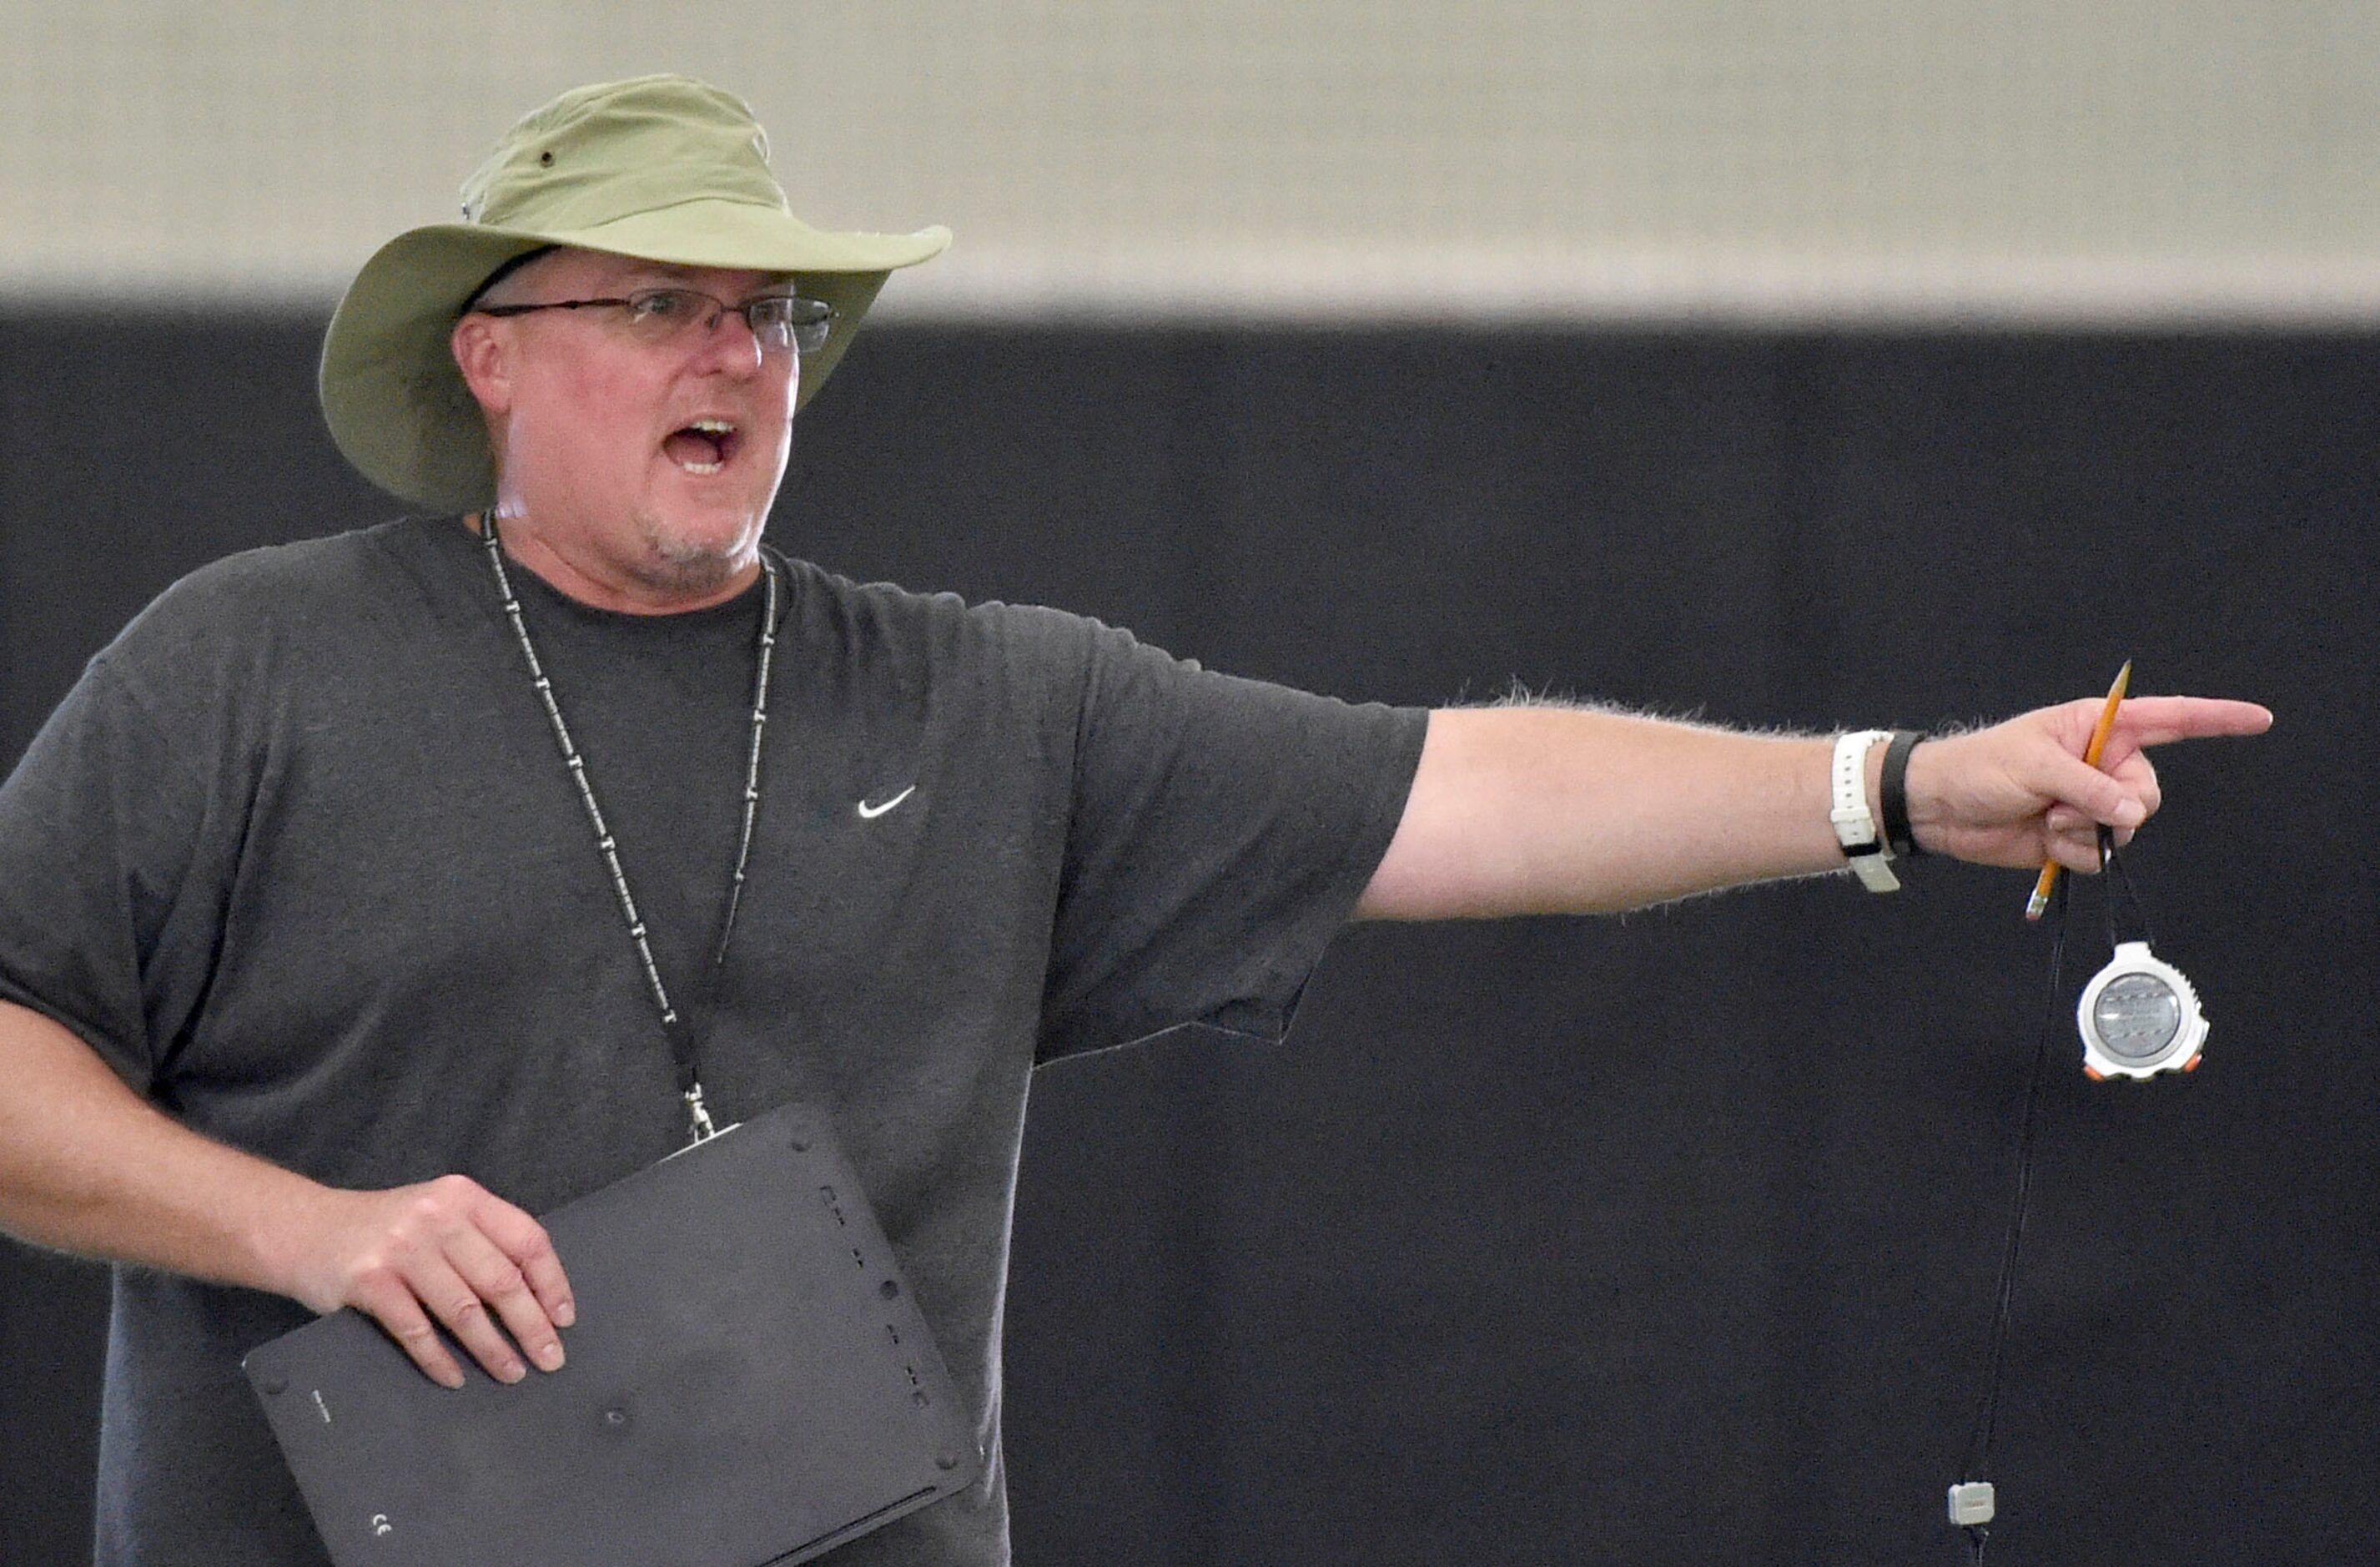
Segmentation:
[[(0, 760), (178, 572), (393, 510), (317, 333), (0, 317)], [(2059, 1034), (1992, 1560), (2330, 1562), (2380, 1524), (2375, 407), (2375, 338), (885, 329), (774, 536), (1359, 698), (1933, 724), (2135, 655), (2273, 703), (2130, 855), (2206, 1069)], [(1285, 1050), (1042, 1074), (1019, 1557), (1961, 1560), (2023, 895), (1359, 929)], [(83, 1550), (102, 1291), (0, 1246), (10, 1565)]]

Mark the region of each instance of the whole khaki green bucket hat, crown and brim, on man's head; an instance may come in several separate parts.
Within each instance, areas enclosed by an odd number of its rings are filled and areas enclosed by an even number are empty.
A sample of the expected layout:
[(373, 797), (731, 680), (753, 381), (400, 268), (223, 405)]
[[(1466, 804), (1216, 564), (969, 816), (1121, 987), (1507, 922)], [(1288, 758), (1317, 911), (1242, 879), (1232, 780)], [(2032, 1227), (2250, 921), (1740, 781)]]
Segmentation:
[(835, 307), (802, 355), (800, 402), (850, 348), (895, 267), (950, 245), (950, 229), (828, 233), (793, 217), (769, 138), (733, 93), (688, 76), (574, 88), (512, 126), (462, 188), (459, 224), (381, 245), (321, 343), (321, 412), (347, 462), (443, 512), (495, 500), (488, 431), (455, 369), (455, 319), (497, 267), (578, 245), (681, 267), (790, 271)]

